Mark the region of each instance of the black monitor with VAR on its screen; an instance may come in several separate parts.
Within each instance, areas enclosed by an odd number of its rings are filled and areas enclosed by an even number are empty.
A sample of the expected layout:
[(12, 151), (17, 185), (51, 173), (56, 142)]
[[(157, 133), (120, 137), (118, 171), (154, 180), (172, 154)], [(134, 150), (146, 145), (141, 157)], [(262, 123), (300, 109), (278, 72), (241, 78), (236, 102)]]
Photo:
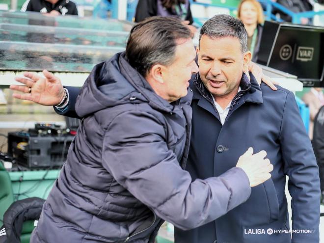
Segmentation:
[(324, 27), (266, 21), (257, 63), (297, 76), (304, 86), (324, 86)]

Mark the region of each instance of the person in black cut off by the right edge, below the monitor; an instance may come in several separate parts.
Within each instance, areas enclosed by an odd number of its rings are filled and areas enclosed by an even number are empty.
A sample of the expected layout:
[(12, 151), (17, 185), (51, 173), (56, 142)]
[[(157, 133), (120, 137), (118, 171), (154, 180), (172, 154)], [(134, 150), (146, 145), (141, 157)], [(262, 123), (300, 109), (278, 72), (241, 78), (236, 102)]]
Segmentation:
[(324, 203), (324, 106), (314, 120), (313, 148), (320, 169), (322, 203)]

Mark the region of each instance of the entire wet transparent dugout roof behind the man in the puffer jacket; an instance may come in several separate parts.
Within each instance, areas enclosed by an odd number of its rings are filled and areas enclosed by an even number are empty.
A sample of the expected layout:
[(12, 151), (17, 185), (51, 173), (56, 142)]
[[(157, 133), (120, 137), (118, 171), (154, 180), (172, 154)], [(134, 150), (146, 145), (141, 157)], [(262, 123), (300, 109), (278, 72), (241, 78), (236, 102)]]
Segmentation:
[(125, 50), (133, 23), (0, 11), (0, 71), (90, 72)]

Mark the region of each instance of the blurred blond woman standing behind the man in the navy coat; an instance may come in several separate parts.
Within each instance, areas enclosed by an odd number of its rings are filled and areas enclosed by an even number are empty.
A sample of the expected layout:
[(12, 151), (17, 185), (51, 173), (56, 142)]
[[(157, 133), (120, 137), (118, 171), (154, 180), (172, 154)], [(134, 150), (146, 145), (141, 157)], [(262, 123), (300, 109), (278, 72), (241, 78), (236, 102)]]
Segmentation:
[(256, 62), (260, 49), (263, 9), (257, 0), (242, 0), (238, 8), (238, 18), (242, 20), (247, 31), (247, 48), (252, 53), (252, 61)]

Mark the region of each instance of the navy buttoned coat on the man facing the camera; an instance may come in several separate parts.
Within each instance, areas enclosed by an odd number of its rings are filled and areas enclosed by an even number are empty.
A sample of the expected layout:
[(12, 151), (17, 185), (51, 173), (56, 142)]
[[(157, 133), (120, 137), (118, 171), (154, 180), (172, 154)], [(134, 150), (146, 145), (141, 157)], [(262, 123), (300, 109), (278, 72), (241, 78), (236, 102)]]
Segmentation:
[[(264, 83), (259, 86), (252, 75), (251, 82), (243, 76), (242, 91), (222, 126), (198, 76), (191, 88), (192, 133), (186, 169), (192, 180), (221, 175), (236, 165), (248, 147), (255, 153), (266, 150), (274, 169), (271, 179), (252, 188), (249, 199), (226, 215), (193, 230), (176, 229), (176, 243), (318, 243), (319, 170), (294, 94), (280, 86), (273, 91)], [(289, 229), (286, 175), (293, 230), (311, 231), (297, 231), (292, 239), (284, 231)], [(268, 234), (268, 229), (273, 233)]]

